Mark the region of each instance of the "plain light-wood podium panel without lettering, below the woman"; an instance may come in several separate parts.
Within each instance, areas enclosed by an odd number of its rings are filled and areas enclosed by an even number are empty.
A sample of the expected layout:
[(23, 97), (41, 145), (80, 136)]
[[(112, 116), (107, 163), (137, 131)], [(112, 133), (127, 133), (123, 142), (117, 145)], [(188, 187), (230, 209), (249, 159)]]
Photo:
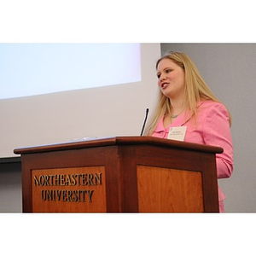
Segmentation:
[(201, 172), (137, 166), (139, 212), (204, 212)]

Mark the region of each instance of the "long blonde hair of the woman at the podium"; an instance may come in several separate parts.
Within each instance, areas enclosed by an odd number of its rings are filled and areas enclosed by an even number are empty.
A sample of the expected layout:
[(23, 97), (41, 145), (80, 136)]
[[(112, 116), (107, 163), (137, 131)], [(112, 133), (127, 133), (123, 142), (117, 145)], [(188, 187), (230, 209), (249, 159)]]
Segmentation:
[[(212, 90), (207, 86), (202, 79), (201, 74), (195, 64), (188, 55), (181, 52), (170, 52), (167, 55), (162, 56), (156, 62), (156, 68), (160, 61), (169, 59), (176, 63), (179, 67), (182, 67), (185, 73), (185, 95), (184, 95), (184, 107), (189, 109), (191, 116), (197, 118), (197, 103), (200, 101), (212, 100), (213, 102), (219, 102), (218, 98), (214, 96)], [(172, 114), (172, 104), (170, 99), (165, 96), (159, 90), (158, 102), (155, 111), (148, 122), (146, 128), (146, 134), (152, 135), (160, 117), (164, 114)], [(230, 118), (231, 125), (231, 118)]]

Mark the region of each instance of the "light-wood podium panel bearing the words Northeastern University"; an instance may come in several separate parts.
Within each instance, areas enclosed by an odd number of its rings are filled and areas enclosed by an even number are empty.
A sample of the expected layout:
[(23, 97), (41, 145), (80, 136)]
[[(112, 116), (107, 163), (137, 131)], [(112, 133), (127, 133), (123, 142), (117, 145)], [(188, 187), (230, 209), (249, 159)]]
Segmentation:
[(32, 170), (32, 212), (107, 212), (104, 166)]

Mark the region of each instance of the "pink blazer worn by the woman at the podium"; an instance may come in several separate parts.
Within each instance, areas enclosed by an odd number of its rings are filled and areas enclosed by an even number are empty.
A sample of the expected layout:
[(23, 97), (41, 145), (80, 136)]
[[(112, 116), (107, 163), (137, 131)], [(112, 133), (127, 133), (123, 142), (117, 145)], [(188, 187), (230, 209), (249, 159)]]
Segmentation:
[[(170, 127), (187, 126), (185, 142), (224, 148), (224, 153), (216, 154), (217, 176), (218, 178), (230, 177), (233, 172), (233, 143), (227, 109), (218, 102), (200, 102), (197, 124), (195, 124), (195, 119), (190, 118), (190, 115), (181, 113), (172, 125), (165, 129), (164, 117), (162, 117), (152, 136), (167, 138)], [(224, 198), (224, 193), (218, 188), (218, 200), (223, 201)]]

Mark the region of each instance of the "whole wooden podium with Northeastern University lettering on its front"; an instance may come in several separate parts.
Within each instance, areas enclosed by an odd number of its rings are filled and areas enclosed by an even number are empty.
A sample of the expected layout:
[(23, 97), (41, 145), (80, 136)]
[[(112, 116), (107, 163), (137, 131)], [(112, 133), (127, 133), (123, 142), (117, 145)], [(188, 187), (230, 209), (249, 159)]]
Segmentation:
[(23, 212), (218, 212), (222, 148), (110, 137), (14, 152)]

